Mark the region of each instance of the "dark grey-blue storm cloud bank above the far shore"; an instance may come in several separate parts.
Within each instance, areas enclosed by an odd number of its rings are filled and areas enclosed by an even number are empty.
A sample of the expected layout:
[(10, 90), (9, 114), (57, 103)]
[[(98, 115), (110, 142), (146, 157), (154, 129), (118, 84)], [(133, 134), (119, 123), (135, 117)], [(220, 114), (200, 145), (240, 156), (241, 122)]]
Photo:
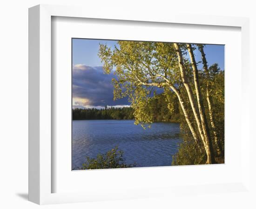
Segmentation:
[(103, 73), (102, 66), (73, 66), (73, 107), (129, 105), (126, 98), (113, 101), (113, 73)]

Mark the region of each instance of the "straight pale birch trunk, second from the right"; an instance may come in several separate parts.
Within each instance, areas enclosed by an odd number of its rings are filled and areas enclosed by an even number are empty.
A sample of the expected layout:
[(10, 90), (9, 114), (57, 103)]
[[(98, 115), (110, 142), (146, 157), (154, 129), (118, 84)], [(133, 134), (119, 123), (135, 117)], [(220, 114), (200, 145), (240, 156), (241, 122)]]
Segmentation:
[[(205, 144), (206, 144), (205, 150), (207, 150), (207, 152), (209, 152), (207, 154), (207, 156), (211, 155), (211, 162), (207, 162), (207, 163), (214, 163), (214, 161), (215, 161), (214, 151), (213, 151), (213, 146), (212, 146), (212, 140), (210, 138), (209, 126), (208, 126), (208, 122), (206, 119), (206, 114), (205, 114), (205, 110), (204, 110), (204, 106), (203, 106), (201, 88), (200, 88), (199, 77), (198, 77), (198, 69), (197, 69), (197, 65), (195, 62), (195, 56), (194, 56), (194, 52), (193, 52), (193, 48), (192, 48), (191, 44), (187, 44), (187, 48), (189, 51), (189, 57), (190, 57), (192, 69), (193, 69), (195, 93), (196, 93), (197, 104), (198, 104), (198, 109), (199, 109), (201, 123), (202, 123), (202, 130), (203, 130), (203, 134), (204, 134), (204, 138), (205, 138)], [(209, 160), (210, 159), (208, 158), (207, 161), (209, 161)]]

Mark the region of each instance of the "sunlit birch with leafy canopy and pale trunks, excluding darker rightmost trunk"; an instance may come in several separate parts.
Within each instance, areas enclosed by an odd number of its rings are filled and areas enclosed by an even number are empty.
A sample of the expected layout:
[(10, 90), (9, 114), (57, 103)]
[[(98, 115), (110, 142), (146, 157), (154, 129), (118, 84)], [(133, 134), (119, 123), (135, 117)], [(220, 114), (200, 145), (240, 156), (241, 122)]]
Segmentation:
[[(177, 43), (118, 41), (114, 49), (100, 45), (99, 57), (105, 73), (114, 71), (114, 99), (128, 97), (135, 110), (135, 124), (145, 128), (152, 123), (148, 114), (148, 101), (154, 88), (162, 88), (166, 94), (168, 91), (175, 92), (191, 135), (195, 142), (202, 140), (207, 155), (206, 163), (214, 163), (206, 124), (205, 121), (202, 123), (203, 114), (201, 116), (191, 85), (192, 79), (197, 79), (199, 88), (198, 77), (193, 76), (189, 60), (183, 57), (182, 53), (186, 50), (186, 45)], [(187, 95), (182, 93), (184, 91)], [(185, 101), (187, 98), (189, 104)], [(189, 115), (189, 109), (192, 109), (193, 116)]]

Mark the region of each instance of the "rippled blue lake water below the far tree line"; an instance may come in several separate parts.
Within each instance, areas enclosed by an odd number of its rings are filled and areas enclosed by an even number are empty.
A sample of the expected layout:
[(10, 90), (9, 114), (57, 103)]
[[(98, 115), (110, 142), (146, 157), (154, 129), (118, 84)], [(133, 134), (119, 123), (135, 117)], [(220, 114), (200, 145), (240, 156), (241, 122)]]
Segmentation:
[(118, 146), (126, 163), (136, 167), (168, 166), (182, 142), (177, 123), (153, 123), (144, 130), (134, 120), (74, 120), (72, 168)]

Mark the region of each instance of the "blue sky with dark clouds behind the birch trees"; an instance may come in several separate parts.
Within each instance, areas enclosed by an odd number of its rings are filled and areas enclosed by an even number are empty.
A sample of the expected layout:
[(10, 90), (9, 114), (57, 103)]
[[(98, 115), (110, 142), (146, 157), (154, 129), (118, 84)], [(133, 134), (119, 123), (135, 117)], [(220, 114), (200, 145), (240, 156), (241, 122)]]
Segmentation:
[[(99, 44), (114, 47), (117, 41), (97, 39), (72, 39), (72, 94), (73, 108), (103, 108), (105, 105), (128, 106), (127, 98), (113, 101), (113, 73), (103, 73), (98, 57)], [(224, 45), (205, 45), (204, 52), (208, 65), (218, 63), (224, 70)], [(201, 61), (201, 53), (194, 51), (196, 61)], [(198, 65), (202, 69), (202, 64)]]

